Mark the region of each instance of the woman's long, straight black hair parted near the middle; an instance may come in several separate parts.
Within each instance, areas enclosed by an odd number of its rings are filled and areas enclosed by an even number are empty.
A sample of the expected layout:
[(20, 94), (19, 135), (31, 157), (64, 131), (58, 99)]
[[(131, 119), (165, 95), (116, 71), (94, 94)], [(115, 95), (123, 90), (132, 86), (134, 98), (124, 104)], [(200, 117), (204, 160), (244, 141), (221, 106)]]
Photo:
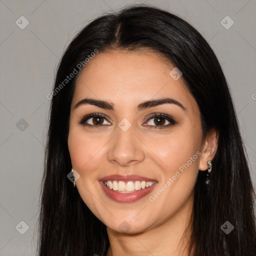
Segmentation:
[[(198, 172), (194, 187), (191, 255), (255, 255), (255, 193), (221, 66), (206, 40), (186, 21), (156, 7), (131, 5), (88, 23), (59, 62), (50, 96), (40, 194), (39, 256), (103, 256), (109, 246), (105, 225), (88, 209), (67, 178), (71, 170), (67, 146), (70, 104), (82, 70), (78, 64), (83, 63), (86, 68), (84, 60), (95, 49), (99, 54), (111, 49), (151, 49), (182, 71), (181, 78), (199, 106), (203, 134), (212, 127), (218, 131), (210, 189), (207, 192), (206, 171)], [(74, 68), (79, 72), (65, 80)], [(226, 221), (234, 226), (229, 234), (221, 229)]]

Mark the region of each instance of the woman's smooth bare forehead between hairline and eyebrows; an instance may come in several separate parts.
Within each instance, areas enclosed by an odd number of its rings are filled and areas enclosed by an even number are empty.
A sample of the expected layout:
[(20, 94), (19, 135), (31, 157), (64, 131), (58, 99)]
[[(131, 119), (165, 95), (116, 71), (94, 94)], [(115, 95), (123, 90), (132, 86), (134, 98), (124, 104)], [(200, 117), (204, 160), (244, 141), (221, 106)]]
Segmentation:
[(197, 107), (183, 80), (174, 80), (169, 75), (173, 68), (156, 52), (99, 52), (78, 77), (73, 104), (84, 97), (93, 97), (116, 106), (133, 107), (143, 100), (172, 97), (185, 107)]

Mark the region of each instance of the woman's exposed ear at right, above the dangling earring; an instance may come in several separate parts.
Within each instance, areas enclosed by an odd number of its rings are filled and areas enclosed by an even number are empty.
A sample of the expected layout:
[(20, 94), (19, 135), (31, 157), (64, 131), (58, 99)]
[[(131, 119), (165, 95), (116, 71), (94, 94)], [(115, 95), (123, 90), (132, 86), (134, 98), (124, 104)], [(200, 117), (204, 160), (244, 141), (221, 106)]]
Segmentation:
[(212, 161), (216, 150), (217, 150), (217, 143), (218, 143), (218, 132), (216, 129), (212, 128), (209, 130), (201, 145), (201, 155), (199, 160), (199, 170), (206, 170), (208, 169), (207, 161)]

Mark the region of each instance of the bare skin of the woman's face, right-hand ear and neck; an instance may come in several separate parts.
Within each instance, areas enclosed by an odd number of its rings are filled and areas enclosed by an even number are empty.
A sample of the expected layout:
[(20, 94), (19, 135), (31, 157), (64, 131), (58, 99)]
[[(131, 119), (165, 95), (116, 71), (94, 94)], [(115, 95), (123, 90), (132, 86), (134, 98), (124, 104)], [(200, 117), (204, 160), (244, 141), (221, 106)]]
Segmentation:
[[(215, 154), (217, 136), (213, 131), (202, 138), (198, 105), (182, 79), (174, 80), (169, 75), (172, 68), (153, 52), (112, 50), (97, 53), (77, 80), (70, 108), (68, 148), (72, 167), (80, 175), (75, 182), (79, 194), (106, 225), (110, 241), (107, 256), (188, 255), (185, 246), (191, 231), (188, 224), (193, 187), (198, 170), (207, 170), (207, 161)], [(75, 108), (85, 97), (111, 102), (114, 110), (90, 104)], [(136, 110), (145, 100), (163, 97), (179, 101), (186, 110), (170, 103)], [(83, 116), (97, 112), (109, 117), (100, 119), (103, 126), (79, 123)], [(159, 129), (154, 122), (157, 118), (148, 119), (153, 113), (170, 115), (177, 123)], [(131, 124), (126, 131), (118, 127), (123, 118)], [(92, 121), (90, 117), (86, 122), (93, 125)], [(166, 119), (161, 121), (161, 125), (169, 124)], [(149, 196), (197, 151), (200, 156), (179, 171), (158, 198), (149, 201)], [(158, 183), (142, 199), (120, 203), (108, 198), (99, 184), (101, 177), (111, 174), (137, 174)], [(126, 230), (120, 230), (123, 221), (127, 222)]]

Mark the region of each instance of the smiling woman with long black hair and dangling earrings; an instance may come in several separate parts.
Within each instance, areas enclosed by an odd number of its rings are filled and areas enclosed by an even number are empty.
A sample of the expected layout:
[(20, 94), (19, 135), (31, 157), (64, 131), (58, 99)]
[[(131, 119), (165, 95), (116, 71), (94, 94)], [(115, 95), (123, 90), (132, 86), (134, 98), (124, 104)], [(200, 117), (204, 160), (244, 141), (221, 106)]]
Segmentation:
[(230, 92), (186, 21), (145, 5), (96, 18), (48, 96), (40, 256), (255, 255)]

